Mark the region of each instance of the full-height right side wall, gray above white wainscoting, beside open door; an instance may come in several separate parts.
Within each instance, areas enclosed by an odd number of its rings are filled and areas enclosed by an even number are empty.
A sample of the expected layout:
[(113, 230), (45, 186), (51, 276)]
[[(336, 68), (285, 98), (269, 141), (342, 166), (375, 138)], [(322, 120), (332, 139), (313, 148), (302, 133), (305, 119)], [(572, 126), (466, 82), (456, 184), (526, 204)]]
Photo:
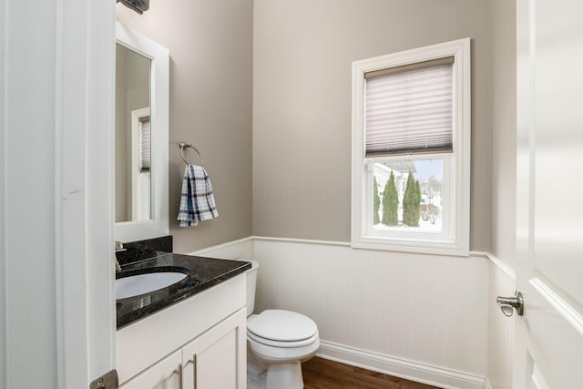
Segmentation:
[[(512, 387), (514, 321), (496, 296), (516, 290), (517, 35), (516, 1), (491, 0), (492, 54), (492, 243), (488, 264), (487, 377), (493, 389)], [(496, 264), (497, 263), (497, 264)]]

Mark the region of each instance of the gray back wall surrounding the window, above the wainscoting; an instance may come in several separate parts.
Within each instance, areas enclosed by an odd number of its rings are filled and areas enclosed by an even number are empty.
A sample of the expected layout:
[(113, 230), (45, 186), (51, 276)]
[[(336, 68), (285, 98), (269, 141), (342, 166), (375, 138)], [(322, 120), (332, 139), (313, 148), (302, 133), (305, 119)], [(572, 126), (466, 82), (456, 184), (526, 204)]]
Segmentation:
[(352, 62), (470, 36), (470, 247), (487, 251), (488, 15), (483, 0), (255, 0), (253, 233), (350, 241)]

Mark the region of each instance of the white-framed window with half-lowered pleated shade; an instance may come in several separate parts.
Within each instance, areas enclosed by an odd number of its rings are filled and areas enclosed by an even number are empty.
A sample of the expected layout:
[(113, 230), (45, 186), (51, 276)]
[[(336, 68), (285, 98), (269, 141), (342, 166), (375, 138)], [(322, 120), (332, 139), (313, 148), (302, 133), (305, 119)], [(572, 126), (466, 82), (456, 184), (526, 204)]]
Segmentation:
[(353, 247), (468, 255), (469, 46), (353, 63)]

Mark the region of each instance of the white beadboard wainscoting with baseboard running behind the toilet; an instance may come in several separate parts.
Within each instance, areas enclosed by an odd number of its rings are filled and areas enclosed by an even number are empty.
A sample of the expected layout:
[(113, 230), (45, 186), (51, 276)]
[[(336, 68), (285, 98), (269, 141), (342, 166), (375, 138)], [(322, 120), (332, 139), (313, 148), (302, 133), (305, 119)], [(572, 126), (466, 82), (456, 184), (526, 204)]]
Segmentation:
[(514, 319), (499, 312), (496, 295), (512, 295), (514, 281), (490, 253), (250, 237), (189, 254), (259, 261), (256, 311), (311, 317), (322, 358), (444, 388), (510, 387)]

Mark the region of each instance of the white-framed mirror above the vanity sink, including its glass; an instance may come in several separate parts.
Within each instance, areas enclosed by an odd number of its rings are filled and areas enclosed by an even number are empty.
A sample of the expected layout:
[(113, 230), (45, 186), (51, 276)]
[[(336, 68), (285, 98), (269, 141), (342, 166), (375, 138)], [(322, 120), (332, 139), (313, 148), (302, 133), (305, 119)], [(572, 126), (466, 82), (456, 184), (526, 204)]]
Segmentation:
[(169, 234), (169, 50), (116, 25), (115, 239)]

